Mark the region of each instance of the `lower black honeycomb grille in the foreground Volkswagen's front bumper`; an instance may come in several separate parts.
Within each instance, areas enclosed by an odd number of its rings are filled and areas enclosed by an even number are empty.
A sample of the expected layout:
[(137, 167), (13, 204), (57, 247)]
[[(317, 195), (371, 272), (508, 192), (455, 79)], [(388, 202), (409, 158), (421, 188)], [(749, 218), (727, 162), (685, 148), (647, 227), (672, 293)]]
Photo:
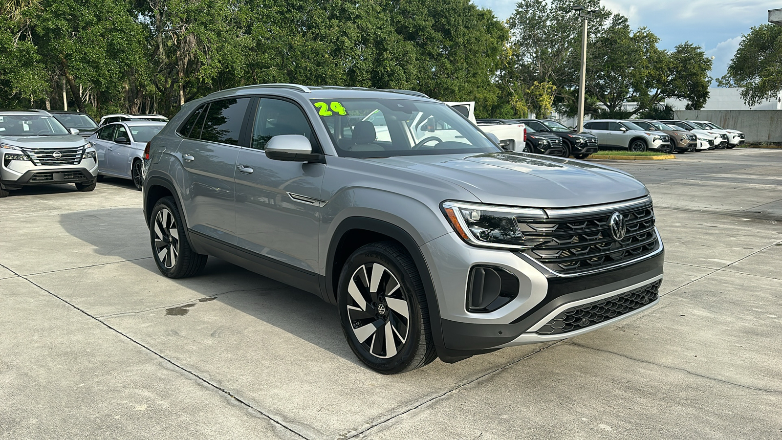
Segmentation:
[(545, 326), (536, 331), (537, 334), (563, 334), (594, 326), (608, 319), (633, 312), (658, 298), (662, 280), (638, 287), (611, 298), (578, 305), (554, 316)]

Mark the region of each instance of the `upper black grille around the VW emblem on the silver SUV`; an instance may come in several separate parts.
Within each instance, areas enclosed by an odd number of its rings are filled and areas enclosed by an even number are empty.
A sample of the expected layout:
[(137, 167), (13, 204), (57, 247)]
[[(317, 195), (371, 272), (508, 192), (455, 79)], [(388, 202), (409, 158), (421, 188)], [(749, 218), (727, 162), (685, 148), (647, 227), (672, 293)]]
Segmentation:
[(618, 211), (626, 220), (626, 234), (614, 240), (608, 222), (612, 212), (574, 218), (519, 220), (524, 251), (548, 269), (579, 273), (617, 265), (651, 254), (659, 247), (651, 203)]

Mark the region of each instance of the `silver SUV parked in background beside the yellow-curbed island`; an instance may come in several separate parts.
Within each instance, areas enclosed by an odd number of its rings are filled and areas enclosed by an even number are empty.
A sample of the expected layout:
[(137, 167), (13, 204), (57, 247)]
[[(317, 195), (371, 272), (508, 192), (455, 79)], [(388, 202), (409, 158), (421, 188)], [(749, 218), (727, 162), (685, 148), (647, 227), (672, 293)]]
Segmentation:
[(584, 124), (584, 132), (597, 136), (602, 147), (623, 148), (642, 153), (656, 150), (661, 153), (673, 153), (669, 135), (663, 132), (644, 130), (633, 121), (601, 119)]

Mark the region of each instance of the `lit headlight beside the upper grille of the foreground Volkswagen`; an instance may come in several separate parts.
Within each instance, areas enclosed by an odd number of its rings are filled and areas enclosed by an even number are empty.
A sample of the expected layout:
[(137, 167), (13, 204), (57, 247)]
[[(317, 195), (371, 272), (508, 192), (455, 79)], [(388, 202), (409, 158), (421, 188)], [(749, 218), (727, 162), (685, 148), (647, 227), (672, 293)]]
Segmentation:
[(473, 246), (529, 249), (540, 242), (526, 240), (525, 231), (551, 229), (551, 225), (534, 224), (546, 218), (540, 209), (447, 201), (443, 212), (457, 235)]

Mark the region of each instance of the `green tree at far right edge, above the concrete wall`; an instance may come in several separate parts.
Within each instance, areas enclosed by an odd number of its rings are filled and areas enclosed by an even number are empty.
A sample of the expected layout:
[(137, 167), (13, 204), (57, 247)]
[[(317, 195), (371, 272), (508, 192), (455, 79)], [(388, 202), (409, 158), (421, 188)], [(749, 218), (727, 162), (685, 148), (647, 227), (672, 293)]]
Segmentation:
[(744, 35), (730, 60), (720, 86), (743, 87), (741, 98), (748, 106), (775, 98), (782, 92), (782, 27), (762, 24)]

